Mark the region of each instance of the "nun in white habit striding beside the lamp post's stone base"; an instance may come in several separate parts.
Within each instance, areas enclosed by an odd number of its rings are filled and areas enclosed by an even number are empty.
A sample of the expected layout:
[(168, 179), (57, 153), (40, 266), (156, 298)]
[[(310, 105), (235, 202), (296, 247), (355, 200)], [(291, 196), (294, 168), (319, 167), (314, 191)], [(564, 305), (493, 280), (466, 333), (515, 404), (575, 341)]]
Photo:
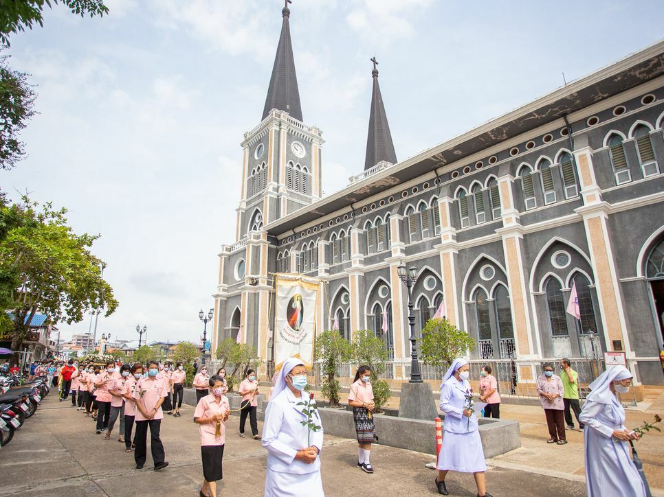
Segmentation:
[(443, 448), (436, 464), (436, 487), (439, 494), (448, 495), (445, 487), (448, 471), (472, 473), (478, 496), (491, 497), (491, 494), (487, 493), (487, 462), (484, 459), (477, 417), (472, 410), (465, 408), (466, 396), (471, 393), (469, 369), (466, 360), (455, 359), (441, 383), (441, 411), (445, 413), (445, 433)]

